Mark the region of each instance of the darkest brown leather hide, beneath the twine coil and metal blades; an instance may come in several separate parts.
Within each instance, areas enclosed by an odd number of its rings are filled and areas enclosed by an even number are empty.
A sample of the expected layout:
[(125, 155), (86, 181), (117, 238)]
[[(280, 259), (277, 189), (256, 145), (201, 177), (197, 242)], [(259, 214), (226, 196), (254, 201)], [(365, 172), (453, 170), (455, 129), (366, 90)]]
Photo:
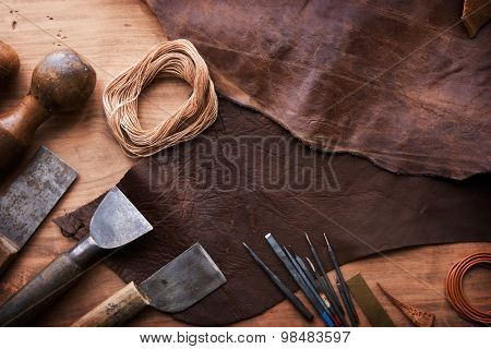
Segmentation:
[[(127, 282), (144, 280), (196, 241), (227, 277), (224, 287), (175, 315), (196, 325), (230, 324), (282, 300), (242, 241), (295, 288), (264, 240), (267, 232), (302, 256), (310, 255), (304, 231), (319, 251), (327, 232), (339, 263), (379, 250), (491, 241), (491, 176), (462, 182), (397, 176), (348, 154), (312, 151), (223, 98), (209, 129), (142, 160), (118, 185), (155, 227), (108, 261)], [(96, 206), (57, 222), (81, 238)]]

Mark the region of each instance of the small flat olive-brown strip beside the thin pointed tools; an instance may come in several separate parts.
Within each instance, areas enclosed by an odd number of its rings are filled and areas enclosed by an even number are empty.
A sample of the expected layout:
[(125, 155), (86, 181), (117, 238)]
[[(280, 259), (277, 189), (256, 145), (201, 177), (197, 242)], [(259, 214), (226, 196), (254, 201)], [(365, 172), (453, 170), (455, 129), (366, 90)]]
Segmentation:
[(349, 291), (373, 327), (395, 327), (394, 322), (382, 308), (361, 274), (358, 273), (346, 284), (348, 284)]

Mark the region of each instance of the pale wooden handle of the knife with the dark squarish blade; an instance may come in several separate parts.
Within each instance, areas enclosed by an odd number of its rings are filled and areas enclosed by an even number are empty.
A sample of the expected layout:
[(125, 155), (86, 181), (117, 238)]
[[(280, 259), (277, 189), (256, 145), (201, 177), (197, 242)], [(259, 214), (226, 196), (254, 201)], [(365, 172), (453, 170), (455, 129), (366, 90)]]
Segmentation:
[(118, 326), (147, 305), (148, 300), (131, 282), (76, 321), (72, 327)]

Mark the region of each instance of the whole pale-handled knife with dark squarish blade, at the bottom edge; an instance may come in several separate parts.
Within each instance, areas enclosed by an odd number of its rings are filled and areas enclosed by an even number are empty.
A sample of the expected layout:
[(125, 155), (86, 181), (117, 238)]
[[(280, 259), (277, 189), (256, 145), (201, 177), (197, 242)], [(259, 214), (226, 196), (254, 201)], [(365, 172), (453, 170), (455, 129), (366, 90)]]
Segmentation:
[(225, 282), (227, 279), (218, 266), (203, 246), (195, 243), (139, 286), (131, 282), (109, 297), (72, 327), (118, 326), (147, 306), (178, 313)]

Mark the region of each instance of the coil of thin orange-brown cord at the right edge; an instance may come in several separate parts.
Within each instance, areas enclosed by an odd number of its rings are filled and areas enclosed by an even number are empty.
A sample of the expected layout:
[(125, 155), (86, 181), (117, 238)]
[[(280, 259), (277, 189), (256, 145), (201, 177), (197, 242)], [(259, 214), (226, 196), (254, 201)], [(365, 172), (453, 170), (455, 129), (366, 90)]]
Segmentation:
[(464, 277), (471, 267), (477, 265), (491, 266), (491, 253), (475, 253), (455, 263), (446, 276), (446, 298), (464, 318), (490, 325), (491, 310), (483, 311), (472, 306), (464, 294)]

